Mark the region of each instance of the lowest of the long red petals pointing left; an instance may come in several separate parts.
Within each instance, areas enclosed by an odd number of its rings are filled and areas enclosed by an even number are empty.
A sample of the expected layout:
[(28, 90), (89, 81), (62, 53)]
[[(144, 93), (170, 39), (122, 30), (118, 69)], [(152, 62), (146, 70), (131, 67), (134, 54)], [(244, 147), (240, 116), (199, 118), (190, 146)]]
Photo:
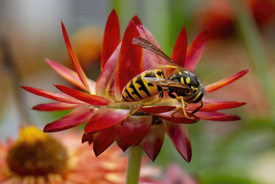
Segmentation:
[(95, 111), (96, 109), (91, 108), (89, 105), (81, 105), (61, 119), (45, 125), (44, 132), (57, 132), (81, 125), (89, 121)]

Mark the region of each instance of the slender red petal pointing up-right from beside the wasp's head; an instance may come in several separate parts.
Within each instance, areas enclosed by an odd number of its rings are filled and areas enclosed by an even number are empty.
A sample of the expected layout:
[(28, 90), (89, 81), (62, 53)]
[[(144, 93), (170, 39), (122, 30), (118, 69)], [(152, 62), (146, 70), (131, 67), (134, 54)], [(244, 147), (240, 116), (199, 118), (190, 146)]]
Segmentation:
[(243, 76), (244, 74), (246, 74), (249, 71), (250, 71), (250, 69), (243, 70), (239, 73), (236, 73), (232, 76), (229, 76), (228, 78), (221, 79), (220, 81), (217, 81), (215, 83), (206, 85), (206, 87), (205, 87), (206, 88), (206, 93), (213, 92), (214, 90), (218, 90), (219, 88), (236, 81), (236, 79), (239, 79), (241, 76)]

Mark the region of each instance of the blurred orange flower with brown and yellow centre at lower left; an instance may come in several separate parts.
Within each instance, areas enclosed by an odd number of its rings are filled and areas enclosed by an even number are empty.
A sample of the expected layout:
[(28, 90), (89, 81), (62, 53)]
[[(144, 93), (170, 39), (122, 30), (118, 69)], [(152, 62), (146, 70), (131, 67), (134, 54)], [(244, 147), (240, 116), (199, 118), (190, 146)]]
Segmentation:
[[(0, 183), (124, 183), (127, 157), (111, 146), (96, 158), (76, 132), (41, 132), (34, 126), (21, 130), (17, 141), (0, 143)], [(142, 162), (141, 183), (153, 183), (158, 167)]]

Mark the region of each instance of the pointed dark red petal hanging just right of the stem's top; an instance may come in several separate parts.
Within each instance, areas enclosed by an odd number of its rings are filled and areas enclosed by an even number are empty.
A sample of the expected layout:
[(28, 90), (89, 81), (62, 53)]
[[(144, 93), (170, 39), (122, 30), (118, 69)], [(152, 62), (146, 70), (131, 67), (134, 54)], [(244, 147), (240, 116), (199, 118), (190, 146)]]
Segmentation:
[(164, 127), (162, 124), (152, 125), (140, 145), (152, 161), (155, 161), (164, 142)]

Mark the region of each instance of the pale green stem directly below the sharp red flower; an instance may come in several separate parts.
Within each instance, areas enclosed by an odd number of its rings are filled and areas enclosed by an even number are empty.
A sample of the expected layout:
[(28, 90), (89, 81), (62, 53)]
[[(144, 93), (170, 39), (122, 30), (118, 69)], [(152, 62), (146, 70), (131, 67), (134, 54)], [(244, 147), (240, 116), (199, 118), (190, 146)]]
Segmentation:
[(142, 162), (142, 147), (140, 145), (129, 147), (126, 184), (137, 184), (140, 178), (140, 165)]

